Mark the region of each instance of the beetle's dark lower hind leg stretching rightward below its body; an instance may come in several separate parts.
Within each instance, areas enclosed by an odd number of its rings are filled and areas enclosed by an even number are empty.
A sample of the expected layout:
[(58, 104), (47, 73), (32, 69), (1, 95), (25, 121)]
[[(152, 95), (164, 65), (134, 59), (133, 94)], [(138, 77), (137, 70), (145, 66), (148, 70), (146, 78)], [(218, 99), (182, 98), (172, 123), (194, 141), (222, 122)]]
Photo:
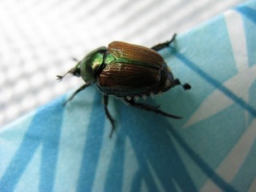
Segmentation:
[(128, 100), (126, 98), (124, 98), (124, 102), (127, 103), (131, 107), (141, 108), (143, 110), (151, 110), (151, 111), (154, 111), (156, 113), (159, 113), (159, 114), (162, 114), (164, 116), (171, 117), (171, 118), (174, 118), (174, 119), (180, 119), (181, 118), (179, 116), (169, 114), (169, 113), (166, 113), (165, 111), (163, 111), (161, 109), (158, 109), (159, 106), (158, 107), (153, 107), (153, 106), (148, 106), (146, 104), (135, 103), (134, 100)]

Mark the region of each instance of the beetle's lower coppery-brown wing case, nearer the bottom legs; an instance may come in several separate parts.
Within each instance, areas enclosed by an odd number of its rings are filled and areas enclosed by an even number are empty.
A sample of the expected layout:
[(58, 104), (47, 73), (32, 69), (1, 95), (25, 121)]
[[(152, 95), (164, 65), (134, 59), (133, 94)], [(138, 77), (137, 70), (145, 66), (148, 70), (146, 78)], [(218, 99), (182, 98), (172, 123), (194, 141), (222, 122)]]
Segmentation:
[(98, 77), (99, 89), (117, 97), (142, 95), (156, 88), (158, 69), (114, 61), (107, 64)]

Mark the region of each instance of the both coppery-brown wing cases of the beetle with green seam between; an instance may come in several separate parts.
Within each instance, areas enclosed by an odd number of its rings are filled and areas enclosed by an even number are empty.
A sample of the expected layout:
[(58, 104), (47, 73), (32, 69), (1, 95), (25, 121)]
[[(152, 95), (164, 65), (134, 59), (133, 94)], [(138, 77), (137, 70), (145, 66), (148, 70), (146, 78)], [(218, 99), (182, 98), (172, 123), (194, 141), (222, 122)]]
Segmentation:
[[(158, 87), (165, 61), (155, 51), (124, 42), (112, 42), (109, 58), (98, 76), (97, 86), (117, 97), (149, 94)], [(108, 57), (107, 57), (108, 58)]]

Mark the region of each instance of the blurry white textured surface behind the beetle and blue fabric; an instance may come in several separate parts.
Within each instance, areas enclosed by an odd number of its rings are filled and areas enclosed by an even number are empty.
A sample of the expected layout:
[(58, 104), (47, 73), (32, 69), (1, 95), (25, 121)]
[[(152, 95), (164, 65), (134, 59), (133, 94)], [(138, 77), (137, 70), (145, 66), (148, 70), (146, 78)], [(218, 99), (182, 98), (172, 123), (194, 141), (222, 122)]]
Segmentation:
[(243, 2), (0, 1), (0, 127), (82, 84), (56, 81), (72, 57), (116, 39), (152, 46)]

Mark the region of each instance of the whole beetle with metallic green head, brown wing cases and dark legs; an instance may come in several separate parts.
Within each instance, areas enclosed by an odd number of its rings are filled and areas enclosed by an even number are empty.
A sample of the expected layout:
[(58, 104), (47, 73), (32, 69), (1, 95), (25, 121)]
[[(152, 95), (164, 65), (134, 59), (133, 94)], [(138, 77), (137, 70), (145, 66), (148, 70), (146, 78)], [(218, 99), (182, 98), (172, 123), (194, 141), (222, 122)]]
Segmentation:
[(104, 110), (112, 124), (110, 137), (115, 130), (115, 121), (108, 109), (109, 95), (122, 98), (131, 107), (180, 119), (181, 117), (167, 113), (159, 107), (135, 102), (137, 98), (162, 93), (176, 85), (182, 85), (185, 90), (191, 88), (190, 84), (180, 84), (178, 79), (174, 79), (166, 61), (157, 52), (168, 47), (175, 36), (151, 48), (114, 41), (108, 47), (103, 46), (91, 51), (63, 76), (57, 76), (61, 81), (66, 74), (70, 73), (82, 77), (86, 83), (79, 87), (64, 105), (80, 91), (91, 84), (96, 84), (103, 93)]

